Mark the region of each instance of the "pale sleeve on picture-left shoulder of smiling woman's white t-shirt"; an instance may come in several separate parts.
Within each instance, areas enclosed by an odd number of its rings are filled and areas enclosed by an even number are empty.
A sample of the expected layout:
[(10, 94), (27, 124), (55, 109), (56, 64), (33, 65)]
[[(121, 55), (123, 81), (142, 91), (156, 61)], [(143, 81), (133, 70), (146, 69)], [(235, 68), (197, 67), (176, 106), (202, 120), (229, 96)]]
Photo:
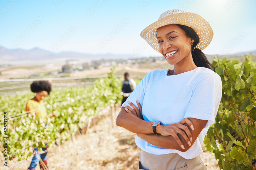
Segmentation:
[(147, 84), (148, 84), (148, 81), (149, 81), (149, 74), (150, 73), (146, 74), (143, 77), (141, 82), (135, 87), (133, 92), (128, 96), (126, 101), (122, 104), (121, 109), (124, 106), (124, 104), (127, 104), (128, 106), (130, 106), (127, 101), (132, 102), (136, 107), (138, 107), (136, 100), (138, 100), (140, 102), (141, 107), (142, 107), (142, 105), (143, 105), (142, 101), (143, 101), (144, 96), (145, 96), (145, 90), (147, 88)]

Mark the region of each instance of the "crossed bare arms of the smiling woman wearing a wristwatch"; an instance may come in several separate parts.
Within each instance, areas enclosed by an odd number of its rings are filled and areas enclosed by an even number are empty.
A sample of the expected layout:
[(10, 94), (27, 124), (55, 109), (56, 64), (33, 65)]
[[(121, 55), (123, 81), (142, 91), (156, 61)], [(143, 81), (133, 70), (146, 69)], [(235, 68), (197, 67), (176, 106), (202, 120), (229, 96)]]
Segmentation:
[(133, 103), (129, 104), (134, 110), (127, 105), (123, 107), (116, 118), (116, 125), (136, 133), (138, 137), (161, 148), (187, 151), (207, 123), (207, 120), (185, 118), (171, 125), (156, 126), (159, 135), (155, 135), (153, 122), (143, 120), (140, 103), (137, 101), (139, 108)]

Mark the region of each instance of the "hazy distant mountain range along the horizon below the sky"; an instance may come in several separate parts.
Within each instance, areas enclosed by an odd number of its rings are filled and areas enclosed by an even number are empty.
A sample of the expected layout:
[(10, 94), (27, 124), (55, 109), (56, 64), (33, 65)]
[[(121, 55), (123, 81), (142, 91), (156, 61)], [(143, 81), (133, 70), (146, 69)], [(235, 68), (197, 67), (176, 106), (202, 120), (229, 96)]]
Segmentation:
[[(243, 52), (243, 53), (236, 53), (228, 56), (243, 56), (246, 53), (251, 53), (251, 55), (256, 55), (255, 51)], [(207, 55), (207, 58), (212, 58), (215, 55)], [(24, 50), (24, 49), (7, 49), (0, 46), (0, 61), (45, 61), (45, 60), (68, 60), (68, 59), (84, 59), (84, 60), (109, 60), (109, 59), (130, 59), (131, 55), (127, 54), (83, 54), (83, 53), (76, 53), (76, 52), (61, 52), (61, 53), (50, 53), (49, 51), (40, 49), (40, 48), (33, 48), (31, 50)]]

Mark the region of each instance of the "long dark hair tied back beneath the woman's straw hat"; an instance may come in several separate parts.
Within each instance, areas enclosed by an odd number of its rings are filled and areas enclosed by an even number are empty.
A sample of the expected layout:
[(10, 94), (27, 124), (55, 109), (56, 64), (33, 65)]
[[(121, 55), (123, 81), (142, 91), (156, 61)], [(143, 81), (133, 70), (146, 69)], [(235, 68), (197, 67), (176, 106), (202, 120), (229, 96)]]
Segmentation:
[(199, 37), (198, 37), (197, 33), (195, 32), (195, 30), (186, 25), (177, 24), (177, 26), (186, 33), (186, 36), (191, 38), (191, 40), (194, 40), (193, 45), (191, 46), (191, 54), (192, 54), (192, 58), (193, 58), (194, 63), (196, 64), (196, 66), (197, 67), (205, 67), (208, 69), (213, 68), (213, 70), (215, 71), (215, 67), (207, 60), (205, 54), (201, 50), (196, 48), (193, 51), (194, 47), (199, 43)]

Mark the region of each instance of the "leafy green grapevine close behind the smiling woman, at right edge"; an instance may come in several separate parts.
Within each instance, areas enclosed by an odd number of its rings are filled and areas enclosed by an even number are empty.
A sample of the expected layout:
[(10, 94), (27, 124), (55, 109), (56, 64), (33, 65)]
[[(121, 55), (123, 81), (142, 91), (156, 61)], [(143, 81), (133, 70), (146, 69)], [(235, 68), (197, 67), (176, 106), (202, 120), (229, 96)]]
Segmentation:
[(205, 147), (219, 159), (221, 169), (252, 170), (256, 158), (255, 63), (247, 55), (242, 63), (215, 57), (213, 65), (222, 80), (222, 99)]

